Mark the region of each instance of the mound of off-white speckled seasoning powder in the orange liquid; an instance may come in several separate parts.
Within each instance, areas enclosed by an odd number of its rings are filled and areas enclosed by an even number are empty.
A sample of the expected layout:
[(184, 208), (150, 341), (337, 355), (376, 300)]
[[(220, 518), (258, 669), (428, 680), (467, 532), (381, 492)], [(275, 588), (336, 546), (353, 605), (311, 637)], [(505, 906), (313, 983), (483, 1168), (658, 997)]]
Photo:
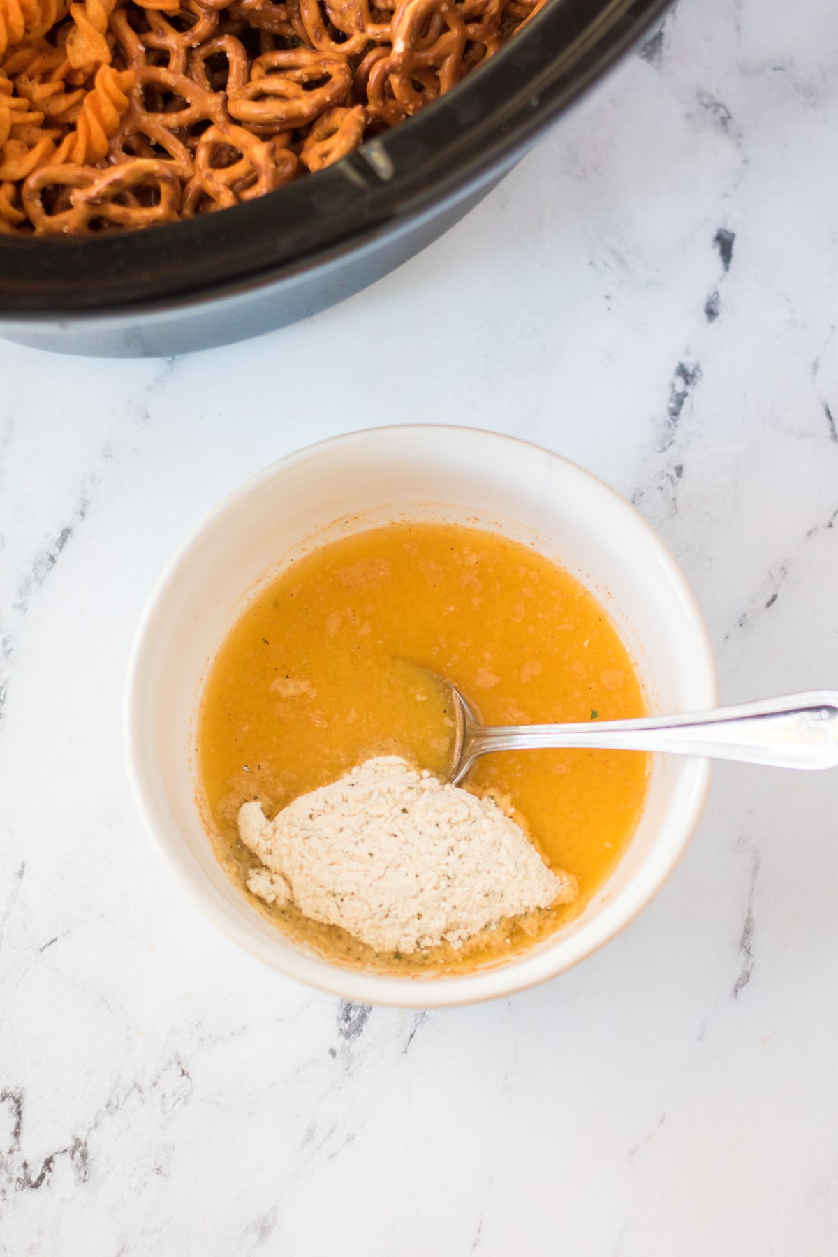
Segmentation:
[(459, 945), (500, 918), (577, 897), (575, 877), (553, 872), (491, 799), (392, 755), (300, 796), (273, 821), (245, 803), (239, 832), (264, 865), (248, 880), (254, 895), (293, 900), (376, 952)]

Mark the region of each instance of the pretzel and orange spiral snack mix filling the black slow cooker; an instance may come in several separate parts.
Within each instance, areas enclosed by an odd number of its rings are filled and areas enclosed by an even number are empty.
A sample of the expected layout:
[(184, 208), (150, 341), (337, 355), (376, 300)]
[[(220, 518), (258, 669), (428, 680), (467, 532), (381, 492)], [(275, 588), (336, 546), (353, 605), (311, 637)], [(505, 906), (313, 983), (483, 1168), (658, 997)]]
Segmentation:
[(0, 233), (224, 210), (340, 161), (547, 0), (0, 0)]

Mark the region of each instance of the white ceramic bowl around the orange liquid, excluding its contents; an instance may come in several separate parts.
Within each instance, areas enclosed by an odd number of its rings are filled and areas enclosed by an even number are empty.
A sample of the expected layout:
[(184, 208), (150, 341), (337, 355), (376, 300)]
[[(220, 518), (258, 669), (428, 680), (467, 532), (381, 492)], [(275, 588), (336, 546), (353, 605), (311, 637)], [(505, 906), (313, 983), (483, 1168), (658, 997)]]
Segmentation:
[(231, 939), (281, 973), (359, 1003), (425, 1008), (508, 996), (613, 938), (672, 872), (707, 792), (706, 760), (658, 757), (629, 847), (577, 920), (489, 969), (397, 978), (329, 964), (273, 929), (227, 880), (196, 806), (195, 730), (207, 670), (255, 590), (335, 535), (397, 517), (477, 522), (560, 561), (608, 608), (653, 713), (716, 704), (701, 612), (637, 512), (548, 450), (460, 427), (339, 436), (254, 476), (197, 529), (163, 576), (128, 678), (128, 764), (146, 825), (180, 884)]

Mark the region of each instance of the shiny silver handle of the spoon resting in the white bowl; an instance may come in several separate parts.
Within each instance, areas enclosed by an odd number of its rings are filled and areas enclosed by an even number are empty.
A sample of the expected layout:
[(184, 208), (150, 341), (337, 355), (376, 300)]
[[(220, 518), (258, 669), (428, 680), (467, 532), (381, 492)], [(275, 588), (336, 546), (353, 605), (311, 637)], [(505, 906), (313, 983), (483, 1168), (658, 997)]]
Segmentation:
[(838, 691), (645, 720), (477, 727), (464, 759), (491, 750), (548, 747), (668, 752), (774, 768), (838, 768)]

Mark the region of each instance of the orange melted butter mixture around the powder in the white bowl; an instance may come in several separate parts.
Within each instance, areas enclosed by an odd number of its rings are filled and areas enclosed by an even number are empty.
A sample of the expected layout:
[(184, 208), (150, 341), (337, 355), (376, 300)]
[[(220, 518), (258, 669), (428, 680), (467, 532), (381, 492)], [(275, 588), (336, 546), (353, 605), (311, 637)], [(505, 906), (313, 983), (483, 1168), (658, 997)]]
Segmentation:
[[(597, 600), (549, 559), (495, 533), (393, 523), (328, 543), (259, 591), (222, 644), (199, 742), (216, 850), (242, 886), (255, 857), (240, 806), (274, 816), (373, 755), (447, 771), (454, 681), (491, 724), (643, 714), (632, 657)], [(554, 931), (599, 889), (641, 813), (647, 757), (540, 750), (490, 755), (469, 789), (494, 796), (548, 862), (573, 874), (557, 904), (411, 957), (381, 954), (293, 903), (260, 911), (304, 945), (386, 972), (452, 972), (505, 959)]]

